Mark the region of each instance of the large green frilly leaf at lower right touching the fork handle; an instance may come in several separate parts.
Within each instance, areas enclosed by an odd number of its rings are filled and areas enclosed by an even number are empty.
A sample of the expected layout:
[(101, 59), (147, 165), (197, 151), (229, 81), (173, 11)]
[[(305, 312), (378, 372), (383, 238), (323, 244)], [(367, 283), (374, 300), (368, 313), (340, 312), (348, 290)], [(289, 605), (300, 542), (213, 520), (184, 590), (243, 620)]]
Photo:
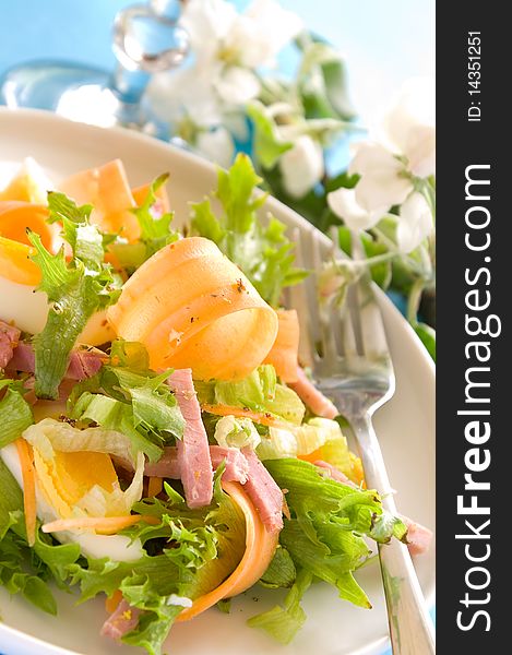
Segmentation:
[(376, 491), (354, 489), (324, 477), (308, 462), (283, 458), (264, 464), (277, 485), (287, 489), (290, 519), (285, 519), (279, 543), (297, 569), (335, 586), (341, 598), (371, 607), (353, 575), (370, 555), (362, 536), (380, 543), (392, 536), (404, 539), (403, 523), (383, 515)]

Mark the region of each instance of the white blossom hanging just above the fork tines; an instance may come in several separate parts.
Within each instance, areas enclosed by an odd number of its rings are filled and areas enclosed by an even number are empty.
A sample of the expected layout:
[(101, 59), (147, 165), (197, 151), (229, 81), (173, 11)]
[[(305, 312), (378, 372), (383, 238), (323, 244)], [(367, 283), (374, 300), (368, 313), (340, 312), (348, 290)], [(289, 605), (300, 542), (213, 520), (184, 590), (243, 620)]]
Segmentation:
[(348, 171), (361, 176), (356, 184), (356, 200), (370, 213), (385, 213), (402, 204), (413, 191), (404, 164), (378, 143), (361, 143)]

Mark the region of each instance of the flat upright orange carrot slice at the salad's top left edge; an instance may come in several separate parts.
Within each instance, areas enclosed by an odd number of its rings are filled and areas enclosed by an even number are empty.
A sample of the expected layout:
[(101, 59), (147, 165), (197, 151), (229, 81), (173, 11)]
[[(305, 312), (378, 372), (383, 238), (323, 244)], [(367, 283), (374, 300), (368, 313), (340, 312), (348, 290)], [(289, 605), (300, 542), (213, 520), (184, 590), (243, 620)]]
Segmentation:
[(91, 221), (104, 231), (120, 233), (130, 242), (139, 239), (139, 222), (130, 211), (136, 205), (120, 159), (78, 172), (61, 182), (59, 190), (78, 204), (92, 204)]

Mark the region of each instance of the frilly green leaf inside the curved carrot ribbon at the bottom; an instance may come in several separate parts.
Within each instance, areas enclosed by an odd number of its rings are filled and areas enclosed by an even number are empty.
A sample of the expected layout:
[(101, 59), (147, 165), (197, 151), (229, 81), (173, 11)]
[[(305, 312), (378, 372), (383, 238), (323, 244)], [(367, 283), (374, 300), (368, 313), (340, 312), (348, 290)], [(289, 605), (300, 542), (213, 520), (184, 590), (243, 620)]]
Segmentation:
[(168, 501), (145, 499), (135, 505), (138, 512), (157, 517), (158, 523), (141, 523), (123, 534), (140, 538), (147, 552), (155, 555), (136, 562), (104, 559), (70, 567), (72, 583), (81, 586), (82, 600), (119, 588), (131, 606), (142, 610), (138, 627), (123, 642), (159, 655), (183, 606), (215, 588), (240, 561), (245, 520), (222, 490), (221, 475), (222, 471), (217, 472), (210, 508), (190, 510), (168, 485)]

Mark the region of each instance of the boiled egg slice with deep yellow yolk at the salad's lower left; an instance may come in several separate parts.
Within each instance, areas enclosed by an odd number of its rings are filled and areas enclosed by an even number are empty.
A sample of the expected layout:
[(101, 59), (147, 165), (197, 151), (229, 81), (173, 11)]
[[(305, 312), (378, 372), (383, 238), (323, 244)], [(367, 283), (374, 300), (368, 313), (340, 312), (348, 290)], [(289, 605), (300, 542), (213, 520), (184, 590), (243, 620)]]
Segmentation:
[[(43, 524), (62, 519), (128, 516), (133, 503), (141, 499), (144, 469), (142, 455), (131, 485), (122, 491), (109, 454), (94, 450), (64, 451), (57, 448), (96, 448), (100, 436), (97, 430), (100, 429), (76, 430), (68, 424), (45, 419), (24, 432), (33, 448), (36, 511)], [(102, 436), (107, 443), (109, 433), (104, 430)], [(70, 437), (74, 437), (74, 440)], [(0, 456), (23, 489), (22, 468), (15, 445), (11, 443), (1, 449)], [(87, 557), (133, 561), (143, 556), (141, 541), (132, 541), (123, 535), (105, 535), (91, 528), (76, 528), (55, 533), (55, 537), (61, 543), (78, 543), (82, 553)]]

